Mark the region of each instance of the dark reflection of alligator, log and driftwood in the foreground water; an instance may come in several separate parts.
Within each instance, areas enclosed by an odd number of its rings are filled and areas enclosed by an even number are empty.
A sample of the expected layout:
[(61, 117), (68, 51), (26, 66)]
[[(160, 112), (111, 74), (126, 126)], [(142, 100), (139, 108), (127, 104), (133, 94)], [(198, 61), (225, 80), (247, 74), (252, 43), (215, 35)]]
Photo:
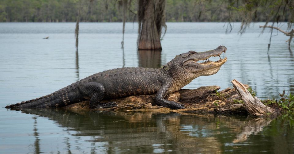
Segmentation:
[[(214, 115), (201, 117), (176, 113), (120, 113), (63, 109), (30, 109), (22, 112), (49, 117), (62, 127), (77, 131), (76, 134), (71, 134), (72, 136), (90, 137), (87, 142), (91, 143), (91, 153), (99, 152), (101, 149), (105, 152), (130, 153), (152, 153), (156, 150), (221, 153), (236, 148), (237, 143), (255, 140), (250, 135), (258, 134), (262, 131), (262, 127), (270, 123), (270, 120), (265, 119)], [(79, 142), (82, 138), (74, 140)], [(75, 141), (68, 141), (67, 144), (68, 149), (76, 146)], [(81, 150), (85, 150), (82, 148), (83, 145), (78, 146)]]

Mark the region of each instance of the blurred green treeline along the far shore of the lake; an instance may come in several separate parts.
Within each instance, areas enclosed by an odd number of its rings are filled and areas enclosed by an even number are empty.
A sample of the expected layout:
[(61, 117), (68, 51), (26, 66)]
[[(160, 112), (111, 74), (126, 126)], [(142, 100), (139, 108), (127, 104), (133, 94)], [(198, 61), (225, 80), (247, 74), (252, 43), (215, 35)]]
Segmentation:
[[(82, 22), (122, 22), (123, 8), (120, 2), (122, 1), (0, 0), (0, 22), (74, 22), (77, 21), (79, 8)], [(245, 15), (240, 14), (242, 9), (250, 10), (252, 7), (253, 21), (267, 21), (266, 17), (273, 11), (270, 7), (274, 7), (270, 5), (269, 8), (250, 5), (239, 7), (242, 4), (241, 0), (166, 0), (165, 20), (168, 22), (242, 21), (240, 16)], [(137, 21), (138, 1), (129, 1), (127, 10), (126, 21)], [(291, 15), (287, 14), (289, 13), (287, 11), (285, 13), (284, 18), (279, 21), (288, 21)]]

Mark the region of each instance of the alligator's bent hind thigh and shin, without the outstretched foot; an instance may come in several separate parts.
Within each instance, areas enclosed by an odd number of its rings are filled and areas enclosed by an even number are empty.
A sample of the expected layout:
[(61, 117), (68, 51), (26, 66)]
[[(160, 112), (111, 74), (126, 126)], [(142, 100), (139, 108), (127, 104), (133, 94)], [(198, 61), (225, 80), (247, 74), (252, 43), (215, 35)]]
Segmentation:
[(95, 82), (80, 83), (79, 90), (84, 98), (90, 99), (90, 109), (96, 108), (105, 94), (105, 88), (103, 84)]

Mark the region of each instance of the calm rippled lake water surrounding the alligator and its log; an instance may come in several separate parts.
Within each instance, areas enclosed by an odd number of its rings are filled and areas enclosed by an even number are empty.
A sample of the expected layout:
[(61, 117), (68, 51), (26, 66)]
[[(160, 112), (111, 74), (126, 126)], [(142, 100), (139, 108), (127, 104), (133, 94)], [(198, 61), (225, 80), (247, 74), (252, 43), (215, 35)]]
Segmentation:
[[(225, 89), (237, 79), (259, 98), (278, 98), (283, 89), (294, 93), (288, 37), (273, 37), (268, 56), (270, 34), (260, 35), (258, 28), (263, 24), (240, 36), (240, 23), (229, 34), (224, 23), (168, 23), (163, 51), (145, 52), (136, 50), (137, 24), (126, 24), (122, 49), (122, 23), (81, 23), (76, 55), (75, 23), (0, 23), (0, 106), (49, 94), (107, 69), (160, 67), (180, 53), (219, 45), (228, 48), (222, 55), (227, 63), (184, 88)], [(0, 153), (293, 153), (292, 119), (0, 108)]]

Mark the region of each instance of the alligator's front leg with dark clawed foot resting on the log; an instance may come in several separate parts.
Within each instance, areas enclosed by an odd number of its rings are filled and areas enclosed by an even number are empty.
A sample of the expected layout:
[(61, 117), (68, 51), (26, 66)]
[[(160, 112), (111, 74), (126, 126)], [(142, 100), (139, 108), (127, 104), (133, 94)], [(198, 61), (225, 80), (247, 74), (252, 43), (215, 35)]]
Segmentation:
[(171, 83), (167, 82), (164, 83), (161, 88), (158, 90), (156, 96), (155, 96), (155, 103), (156, 105), (168, 107), (171, 109), (184, 109), (183, 104), (174, 102), (174, 101), (168, 101), (164, 99), (166, 95), (168, 94), (168, 90), (171, 88)]

